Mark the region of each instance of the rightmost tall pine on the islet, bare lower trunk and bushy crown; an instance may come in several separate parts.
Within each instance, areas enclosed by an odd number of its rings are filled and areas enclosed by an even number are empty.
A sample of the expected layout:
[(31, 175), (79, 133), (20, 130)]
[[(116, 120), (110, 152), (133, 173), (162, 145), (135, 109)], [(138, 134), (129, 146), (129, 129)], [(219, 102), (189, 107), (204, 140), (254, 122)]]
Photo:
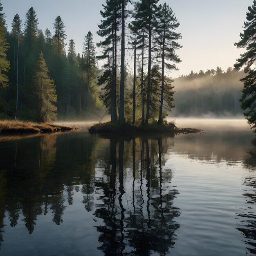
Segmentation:
[[(162, 113), (164, 105), (164, 92), (165, 92), (165, 74), (164, 70), (178, 70), (175, 63), (180, 63), (181, 60), (175, 54), (175, 50), (180, 49), (182, 46), (179, 45), (176, 40), (181, 39), (180, 34), (175, 32), (175, 29), (179, 27), (180, 23), (177, 22), (177, 18), (174, 16), (172, 9), (164, 3), (160, 5), (159, 13), (157, 14), (157, 46), (155, 50), (158, 53), (158, 56), (162, 62), (162, 81), (161, 81), (161, 99), (160, 99), (160, 108), (159, 108), (159, 117), (158, 124), (162, 124)], [(170, 63), (171, 62), (171, 63)], [(167, 86), (167, 84), (166, 84)], [(166, 91), (168, 92), (168, 91)], [(165, 94), (166, 95), (166, 94)], [(168, 97), (168, 93), (166, 95)], [(170, 101), (169, 101), (170, 102)], [(172, 107), (172, 105), (170, 105)]]

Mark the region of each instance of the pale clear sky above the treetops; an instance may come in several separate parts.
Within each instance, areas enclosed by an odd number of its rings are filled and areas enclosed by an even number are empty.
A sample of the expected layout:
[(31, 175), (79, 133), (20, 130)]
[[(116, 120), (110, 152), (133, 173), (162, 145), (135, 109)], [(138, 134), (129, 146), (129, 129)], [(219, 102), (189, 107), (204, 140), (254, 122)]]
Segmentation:
[[(22, 22), (32, 6), (37, 14), (39, 27), (45, 31), (48, 27), (53, 33), (55, 18), (61, 16), (66, 29), (67, 43), (71, 38), (76, 44), (76, 52), (82, 52), (85, 34), (90, 30), (97, 43), (97, 25), (100, 23), (101, 4), (105, 0), (1, 0), (9, 29), (16, 13)], [(160, 0), (159, 3), (163, 3)], [(236, 58), (243, 52), (236, 49), (234, 43), (240, 39), (246, 12), (253, 0), (167, 0), (173, 9), (182, 34), (179, 51), (182, 63), (173, 77), (207, 69), (224, 70), (233, 66)], [(129, 57), (130, 58), (130, 57)]]

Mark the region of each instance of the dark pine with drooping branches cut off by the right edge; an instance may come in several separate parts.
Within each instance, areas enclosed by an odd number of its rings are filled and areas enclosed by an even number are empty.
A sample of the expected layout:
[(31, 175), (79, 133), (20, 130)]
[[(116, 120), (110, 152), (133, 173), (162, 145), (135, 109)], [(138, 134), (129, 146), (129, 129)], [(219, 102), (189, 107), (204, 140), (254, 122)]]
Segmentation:
[(244, 31), (240, 34), (241, 40), (235, 43), (236, 47), (245, 48), (246, 52), (240, 55), (234, 67), (236, 70), (245, 68), (244, 71), (247, 75), (240, 79), (244, 83), (240, 99), (241, 108), (245, 110), (244, 115), (248, 124), (252, 128), (256, 128), (256, 0), (254, 0), (252, 7), (248, 7), (246, 19)]

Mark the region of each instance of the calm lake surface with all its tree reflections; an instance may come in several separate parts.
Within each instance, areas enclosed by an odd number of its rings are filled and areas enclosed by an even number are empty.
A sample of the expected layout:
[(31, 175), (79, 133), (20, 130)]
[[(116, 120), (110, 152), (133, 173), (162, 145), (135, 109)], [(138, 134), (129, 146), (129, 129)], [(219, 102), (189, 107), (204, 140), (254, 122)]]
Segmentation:
[(177, 125), (205, 132), (0, 142), (0, 255), (256, 255), (254, 133)]

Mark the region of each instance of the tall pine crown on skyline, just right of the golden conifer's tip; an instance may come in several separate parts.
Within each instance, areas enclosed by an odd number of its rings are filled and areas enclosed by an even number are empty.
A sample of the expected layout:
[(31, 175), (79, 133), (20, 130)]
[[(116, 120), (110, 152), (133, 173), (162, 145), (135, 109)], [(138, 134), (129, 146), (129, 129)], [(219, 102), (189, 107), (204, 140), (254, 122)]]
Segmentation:
[(67, 35), (65, 34), (65, 25), (60, 16), (58, 16), (55, 19), (54, 29), (55, 29), (54, 39), (55, 39), (55, 44), (57, 48), (57, 53), (65, 54), (65, 39)]

